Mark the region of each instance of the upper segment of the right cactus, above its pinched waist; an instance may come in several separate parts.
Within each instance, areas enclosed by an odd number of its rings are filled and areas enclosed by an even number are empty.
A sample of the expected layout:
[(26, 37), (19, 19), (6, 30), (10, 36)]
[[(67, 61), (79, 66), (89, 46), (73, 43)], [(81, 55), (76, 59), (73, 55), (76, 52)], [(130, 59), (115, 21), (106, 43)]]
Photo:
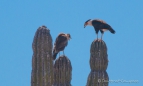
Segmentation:
[(108, 66), (107, 47), (104, 41), (95, 40), (90, 48), (91, 70), (106, 70)]

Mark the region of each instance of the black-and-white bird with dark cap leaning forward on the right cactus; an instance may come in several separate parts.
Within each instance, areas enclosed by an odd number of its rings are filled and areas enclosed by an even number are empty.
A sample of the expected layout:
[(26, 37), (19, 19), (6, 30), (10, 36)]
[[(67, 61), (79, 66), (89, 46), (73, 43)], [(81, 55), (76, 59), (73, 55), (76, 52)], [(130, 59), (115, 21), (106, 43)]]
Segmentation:
[(105, 21), (100, 20), (100, 19), (88, 19), (85, 23), (84, 23), (84, 28), (87, 26), (93, 26), (97, 35), (97, 40), (98, 40), (98, 32), (100, 30), (101, 32), (101, 40), (102, 40), (102, 36), (104, 34), (105, 31), (109, 30), (111, 33), (115, 34), (115, 30), (109, 25), (107, 24)]

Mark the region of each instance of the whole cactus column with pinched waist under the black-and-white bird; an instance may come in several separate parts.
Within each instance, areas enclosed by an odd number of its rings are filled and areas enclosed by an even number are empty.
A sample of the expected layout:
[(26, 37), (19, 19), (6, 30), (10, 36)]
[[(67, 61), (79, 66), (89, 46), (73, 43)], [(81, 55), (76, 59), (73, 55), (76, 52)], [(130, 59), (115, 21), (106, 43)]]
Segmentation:
[(103, 40), (95, 40), (90, 48), (90, 68), (87, 86), (108, 86), (108, 66), (107, 47)]

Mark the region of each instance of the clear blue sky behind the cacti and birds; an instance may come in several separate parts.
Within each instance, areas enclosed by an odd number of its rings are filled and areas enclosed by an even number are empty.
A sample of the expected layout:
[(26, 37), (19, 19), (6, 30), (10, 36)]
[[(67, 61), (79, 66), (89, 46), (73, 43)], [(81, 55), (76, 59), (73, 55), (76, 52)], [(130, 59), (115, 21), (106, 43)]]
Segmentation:
[[(93, 27), (83, 28), (88, 19), (102, 19), (116, 34), (105, 32), (110, 80), (138, 83), (109, 83), (110, 86), (143, 84), (142, 0), (1, 0), (0, 1), (0, 86), (30, 86), (32, 41), (37, 28), (46, 25), (53, 43), (60, 32), (72, 40), (65, 54), (72, 63), (73, 86), (85, 86), (90, 73), (90, 45), (96, 38)], [(100, 34), (99, 34), (100, 37)]]

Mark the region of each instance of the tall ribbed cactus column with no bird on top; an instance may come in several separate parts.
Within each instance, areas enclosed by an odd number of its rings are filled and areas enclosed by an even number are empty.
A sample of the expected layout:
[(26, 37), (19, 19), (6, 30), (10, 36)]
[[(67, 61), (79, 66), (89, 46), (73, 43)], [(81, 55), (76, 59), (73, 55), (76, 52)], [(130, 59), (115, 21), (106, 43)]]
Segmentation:
[(37, 29), (32, 43), (31, 86), (52, 86), (52, 37), (46, 26)]

